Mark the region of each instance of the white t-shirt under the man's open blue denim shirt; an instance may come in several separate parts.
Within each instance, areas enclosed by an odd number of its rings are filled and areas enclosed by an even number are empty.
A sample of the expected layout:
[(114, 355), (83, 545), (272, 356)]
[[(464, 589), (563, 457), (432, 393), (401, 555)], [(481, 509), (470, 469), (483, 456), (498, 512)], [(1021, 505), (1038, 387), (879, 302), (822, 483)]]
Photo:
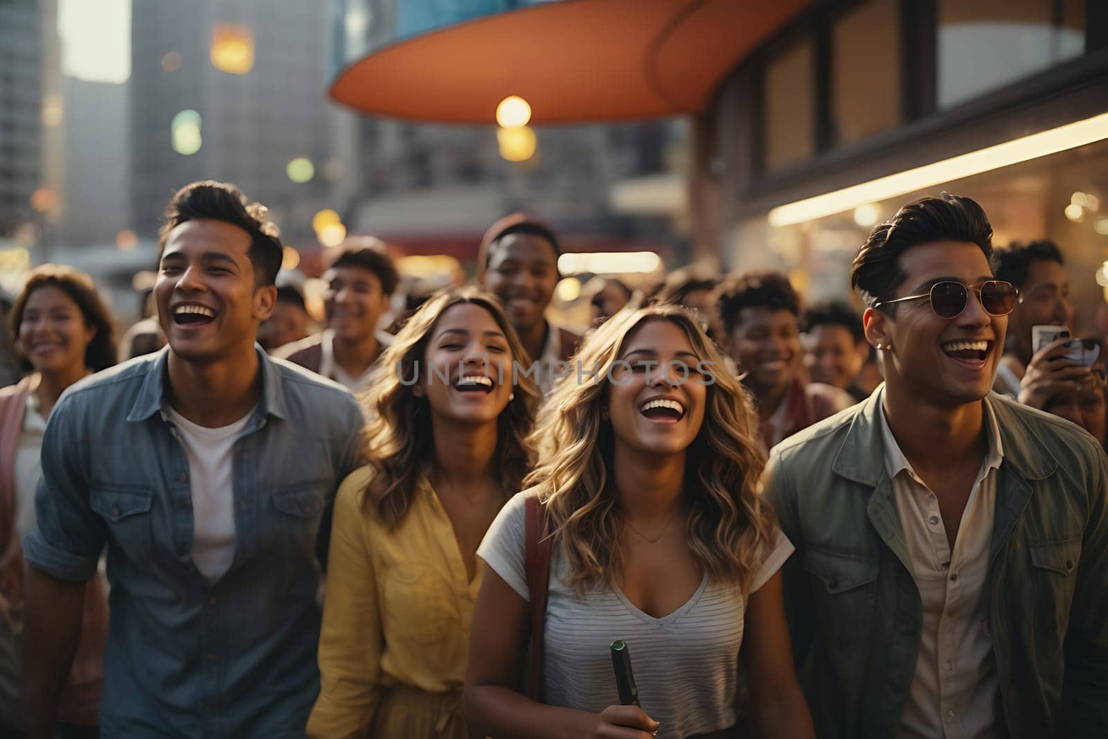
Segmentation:
[(208, 584), (230, 568), (235, 558), (235, 440), (249, 413), (230, 425), (208, 429), (168, 410), (177, 441), (188, 456), (193, 497), (193, 564)]

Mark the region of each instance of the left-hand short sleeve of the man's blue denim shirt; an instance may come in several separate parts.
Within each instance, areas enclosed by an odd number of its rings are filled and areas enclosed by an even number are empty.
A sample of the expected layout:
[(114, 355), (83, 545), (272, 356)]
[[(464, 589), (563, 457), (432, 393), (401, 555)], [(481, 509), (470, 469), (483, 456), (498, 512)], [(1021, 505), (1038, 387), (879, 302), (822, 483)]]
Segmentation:
[(42, 478), (34, 496), (35, 525), (23, 556), (38, 569), (71, 582), (92, 579), (104, 548), (103, 520), (89, 505), (88, 443), (74, 398), (63, 398), (42, 438)]

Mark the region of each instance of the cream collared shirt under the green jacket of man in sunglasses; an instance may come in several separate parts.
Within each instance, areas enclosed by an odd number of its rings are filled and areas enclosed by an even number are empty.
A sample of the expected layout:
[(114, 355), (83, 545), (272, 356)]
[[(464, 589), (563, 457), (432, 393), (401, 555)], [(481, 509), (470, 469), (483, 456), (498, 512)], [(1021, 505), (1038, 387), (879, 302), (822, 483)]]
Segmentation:
[(897, 739), (993, 737), (999, 685), (988, 624), (988, 553), (1004, 448), (996, 415), (984, 403), (988, 451), (962, 513), (951, 551), (938, 499), (912, 470), (881, 404), (885, 469), (907, 543), (912, 578), (923, 602), (923, 635)]

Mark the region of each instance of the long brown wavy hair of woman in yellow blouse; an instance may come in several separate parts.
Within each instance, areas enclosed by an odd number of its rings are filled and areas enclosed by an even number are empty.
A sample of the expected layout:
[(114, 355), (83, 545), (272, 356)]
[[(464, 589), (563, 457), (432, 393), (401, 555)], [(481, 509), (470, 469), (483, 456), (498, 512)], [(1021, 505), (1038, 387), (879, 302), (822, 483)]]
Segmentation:
[[(376, 414), (365, 432), (367, 461), (375, 471), (365, 500), (389, 528), (396, 527), (408, 512), (434, 453), (431, 409), (425, 397), (412, 392), (418, 384), (412, 380), (424, 378), (430, 371), (427, 347), (439, 317), (460, 304), (480, 306), (489, 311), (507, 339), (512, 360), (523, 366), (531, 361), (500, 302), (474, 286), (440, 290), (412, 314), (381, 353), (369, 383), (370, 390), (361, 397), (369, 414)], [(494, 456), (505, 501), (521, 490), (523, 478), (531, 469), (534, 455), (529, 434), (540, 397), (530, 377), (520, 373), (515, 382), (515, 397), (497, 421)]]

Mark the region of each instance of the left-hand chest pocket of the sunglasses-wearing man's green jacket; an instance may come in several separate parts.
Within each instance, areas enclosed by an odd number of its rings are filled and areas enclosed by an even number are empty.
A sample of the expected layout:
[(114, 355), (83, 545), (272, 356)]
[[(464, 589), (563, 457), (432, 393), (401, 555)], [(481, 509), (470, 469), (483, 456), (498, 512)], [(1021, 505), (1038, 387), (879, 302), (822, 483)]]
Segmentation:
[(868, 642), (876, 598), (878, 563), (873, 560), (807, 548), (803, 567), (819, 612), (824, 643)]

